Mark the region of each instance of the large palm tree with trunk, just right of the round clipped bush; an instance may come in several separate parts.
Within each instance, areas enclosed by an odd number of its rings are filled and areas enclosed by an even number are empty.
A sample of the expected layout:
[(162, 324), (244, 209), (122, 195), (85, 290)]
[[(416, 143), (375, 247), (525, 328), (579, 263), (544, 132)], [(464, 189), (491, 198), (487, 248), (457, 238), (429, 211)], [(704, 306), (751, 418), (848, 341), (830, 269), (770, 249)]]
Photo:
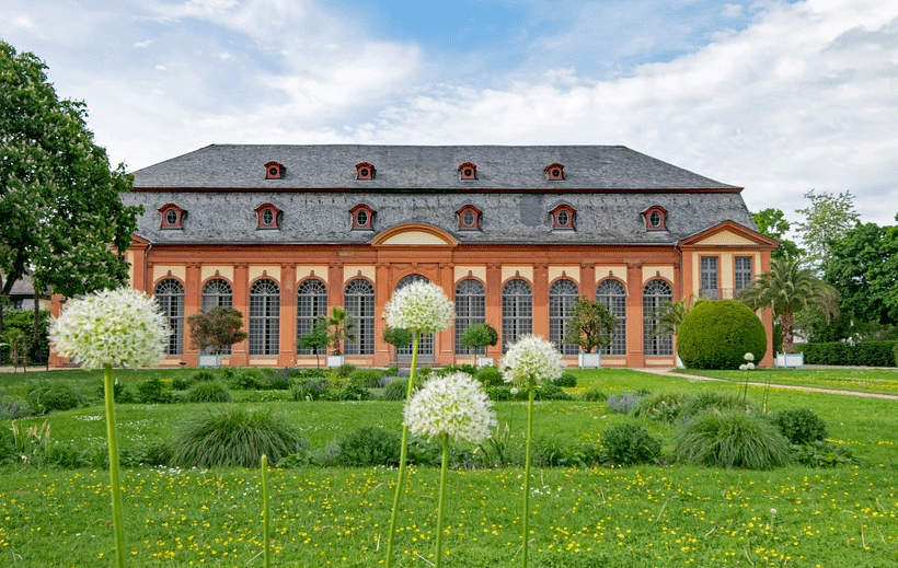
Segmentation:
[(797, 258), (773, 258), (771, 270), (758, 276), (739, 300), (752, 310), (772, 308), (773, 316), (783, 326), (783, 351), (794, 352), (795, 314), (808, 308), (819, 308), (829, 322), (839, 313), (839, 292), (817, 278), (814, 270), (803, 268)]

